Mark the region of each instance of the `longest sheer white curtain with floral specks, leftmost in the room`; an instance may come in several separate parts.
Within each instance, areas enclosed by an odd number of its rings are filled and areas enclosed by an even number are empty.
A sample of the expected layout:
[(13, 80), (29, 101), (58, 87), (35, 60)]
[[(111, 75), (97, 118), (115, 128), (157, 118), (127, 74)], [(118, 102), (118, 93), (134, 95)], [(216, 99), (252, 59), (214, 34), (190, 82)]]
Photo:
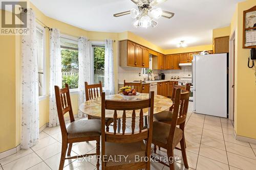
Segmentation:
[(21, 147), (29, 149), (39, 139), (38, 67), (34, 11), (28, 9), (29, 34), (22, 36), (22, 137)]

